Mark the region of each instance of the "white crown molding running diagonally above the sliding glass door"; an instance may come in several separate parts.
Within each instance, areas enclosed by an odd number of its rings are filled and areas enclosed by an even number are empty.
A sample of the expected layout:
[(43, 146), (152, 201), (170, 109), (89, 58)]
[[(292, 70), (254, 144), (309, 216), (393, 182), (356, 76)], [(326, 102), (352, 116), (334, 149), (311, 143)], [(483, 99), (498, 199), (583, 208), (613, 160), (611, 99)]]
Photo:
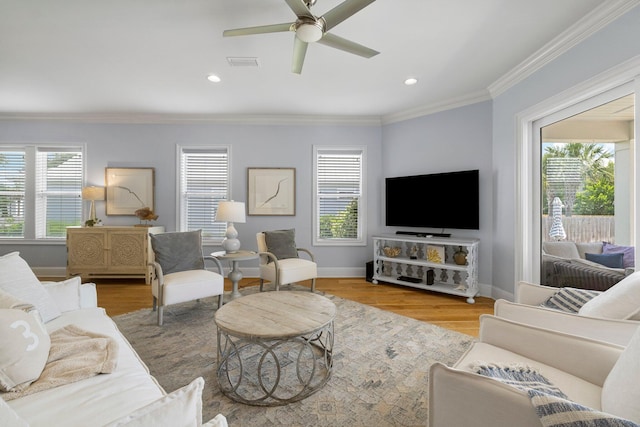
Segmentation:
[(585, 15), (575, 25), (534, 52), (511, 71), (489, 85), (492, 98), (506, 92), (569, 49), (600, 31), (640, 4), (640, 0), (610, 0)]

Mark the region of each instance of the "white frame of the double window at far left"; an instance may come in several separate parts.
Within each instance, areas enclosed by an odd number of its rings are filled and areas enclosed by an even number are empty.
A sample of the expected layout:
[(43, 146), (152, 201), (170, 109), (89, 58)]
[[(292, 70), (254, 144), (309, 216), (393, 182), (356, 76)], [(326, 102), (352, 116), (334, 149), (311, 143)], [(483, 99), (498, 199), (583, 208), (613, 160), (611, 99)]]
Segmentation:
[[(86, 144), (72, 144), (72, 143), (38, 143), (38, 144), (1, 144), (0, 151), (17, 151), (24, 152), (24, 228), (22, 236), (9, 237), (1, 236), (0, 242), (2, 243), (65, 243), (66, 233), (64, 236), (48, 237), (46, 235), (47, 230), (47, 216), (46, 211), (42, 211), (43, 206), (46, 203), (38, 202), (39, 197), (46, 197), (47, 193), (55, 193), (44, 191), (42, 195), (38, 194), (40, 186), (44, 181), (41, 179), (38, 173), (38, 153), (46, 152), (80, 152), (81, 166), (80, 166), (80, 188), (77, 191), (77, 197), (81, 198), (82, 187), (85, 185), (86, 177), (86, 157), (87, 147)], [(45, 168), (46, 169), (46, 168)], [(85, 206), (81, 202), (80, 218), (78, 225), (82, 225), (82, 220), (85, 217)], [(43, 223), (38, 223), (44, 221)]]

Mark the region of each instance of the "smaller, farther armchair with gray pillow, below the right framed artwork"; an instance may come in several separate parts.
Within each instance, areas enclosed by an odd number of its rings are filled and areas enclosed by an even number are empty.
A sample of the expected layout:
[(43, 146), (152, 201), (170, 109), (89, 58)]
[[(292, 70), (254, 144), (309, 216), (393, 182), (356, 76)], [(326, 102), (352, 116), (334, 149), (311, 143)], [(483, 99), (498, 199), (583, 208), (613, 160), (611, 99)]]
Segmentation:
[[(275, 285), (275, 290), (289, 283), (311, 280), (311, 292), (316, 290), (318, 266), (313, 253), (299, 248), (294, 230), (265, 231), (256, 234), (260, 255), (260, 291), (265, 281)], [(306, 258), (302, 258), (300, 254)]]

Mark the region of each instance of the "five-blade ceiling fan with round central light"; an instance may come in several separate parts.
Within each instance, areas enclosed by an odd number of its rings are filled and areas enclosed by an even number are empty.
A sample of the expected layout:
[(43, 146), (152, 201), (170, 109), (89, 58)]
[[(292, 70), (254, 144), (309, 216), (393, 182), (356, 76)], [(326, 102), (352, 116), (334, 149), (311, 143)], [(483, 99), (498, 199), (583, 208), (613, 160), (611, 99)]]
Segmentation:
[(324, 15), (317, 17), (311, 13), (311, 6), (316, 3), (316, 0), (285, 0), (287, 5), (293, 10), (293, 13), (298, 17), (295, 22), (236, 28), (233, 30), (225, 30), (222, 35), (224, 37), (232, 37), (293, 31), (296, 33), (296, 36), (293, 44), (291, 71), (300, 74), (309, 43), (317, 42), (365, 58), (371, 58), (380, 53), (328, 32), (374, 1), (375, 0), (346, 0)]

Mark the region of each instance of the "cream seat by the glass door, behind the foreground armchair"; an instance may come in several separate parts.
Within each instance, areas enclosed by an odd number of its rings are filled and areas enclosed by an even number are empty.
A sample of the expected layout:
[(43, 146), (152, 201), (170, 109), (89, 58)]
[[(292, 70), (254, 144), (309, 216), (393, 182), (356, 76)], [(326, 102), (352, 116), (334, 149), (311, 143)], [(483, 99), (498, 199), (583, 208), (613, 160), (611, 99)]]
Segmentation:
[[(634, 277), (637, 275), (638, 273), (634, 273)], [(627, 280), (630, 279), (632, 278)], [(622, 286), (624, 285), (625, 283), (622, 283)], [(610, 288), (610, 292), (617, 290), (615, 286)], [(516, 301), (497, 300), (494, 305), (494, 314), (504, 319), (528, 325), (623, 346), (627, 345), (631, 336), (640, 326), (640, 321), (638, 320), (591, 317), (540, 306), (558, 291), (559, 289), (556, 287), (519, 282), (516, 284), (515, 289)]]

